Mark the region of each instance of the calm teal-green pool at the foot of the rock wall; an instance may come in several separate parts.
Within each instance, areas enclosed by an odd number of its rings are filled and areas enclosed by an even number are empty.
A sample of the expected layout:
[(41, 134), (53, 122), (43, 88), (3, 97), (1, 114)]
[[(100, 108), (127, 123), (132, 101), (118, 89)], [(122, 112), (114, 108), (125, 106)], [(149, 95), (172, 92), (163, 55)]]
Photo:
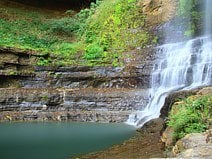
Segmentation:
[(132, 137), (125, 124), (0, 123), (1, 159), (66, 159)]

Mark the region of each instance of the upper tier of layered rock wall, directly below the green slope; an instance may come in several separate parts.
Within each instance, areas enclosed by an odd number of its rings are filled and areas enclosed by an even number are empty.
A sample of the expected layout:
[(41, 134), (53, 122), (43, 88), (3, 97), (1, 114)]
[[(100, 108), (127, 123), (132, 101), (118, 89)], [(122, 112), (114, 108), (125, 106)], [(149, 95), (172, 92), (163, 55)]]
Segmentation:
[(147, 54), (125, 67), (41, 67), (48, 55), (4, 48), (0, 55), (0, 88), (148, 88), (152, 69)]

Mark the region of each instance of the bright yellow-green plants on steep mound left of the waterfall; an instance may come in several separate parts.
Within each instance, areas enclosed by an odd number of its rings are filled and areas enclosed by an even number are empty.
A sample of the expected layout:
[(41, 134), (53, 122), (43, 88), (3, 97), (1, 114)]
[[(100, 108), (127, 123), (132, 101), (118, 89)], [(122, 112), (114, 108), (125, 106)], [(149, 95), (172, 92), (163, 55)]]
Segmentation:
[[(89, 63), (119, 65), (122, 52), (151, 43), (151, 36), (144, 28), (145, 17), (136, 4), (136, 0), (107, 0), (88, 19), (83, 38), (87, 44), (84, 58)], [(94, 50), (100, 53), (94, 55)]]

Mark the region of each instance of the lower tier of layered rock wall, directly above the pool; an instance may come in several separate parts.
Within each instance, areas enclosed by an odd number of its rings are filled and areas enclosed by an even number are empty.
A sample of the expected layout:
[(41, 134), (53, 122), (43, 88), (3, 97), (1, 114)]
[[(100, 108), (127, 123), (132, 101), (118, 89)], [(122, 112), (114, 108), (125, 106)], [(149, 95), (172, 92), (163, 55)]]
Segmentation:
[(0, 92), (0, 121), (124, 122), (147, 101), (144, 91), (135, 89), (11, 88)]

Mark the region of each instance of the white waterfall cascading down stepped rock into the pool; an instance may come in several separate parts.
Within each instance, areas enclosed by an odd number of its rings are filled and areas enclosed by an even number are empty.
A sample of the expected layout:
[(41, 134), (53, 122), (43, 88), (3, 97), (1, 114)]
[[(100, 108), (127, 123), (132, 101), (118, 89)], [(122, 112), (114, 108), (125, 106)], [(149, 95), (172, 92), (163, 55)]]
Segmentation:
[(160, 116), (169, 93), (212, 85), (212, 0), (206, 0), (205, 31), (202, 37), (185, 42), (165, 44), (158, 48), (149, 104), (129, 116), (128, 124), (142, 127)]

